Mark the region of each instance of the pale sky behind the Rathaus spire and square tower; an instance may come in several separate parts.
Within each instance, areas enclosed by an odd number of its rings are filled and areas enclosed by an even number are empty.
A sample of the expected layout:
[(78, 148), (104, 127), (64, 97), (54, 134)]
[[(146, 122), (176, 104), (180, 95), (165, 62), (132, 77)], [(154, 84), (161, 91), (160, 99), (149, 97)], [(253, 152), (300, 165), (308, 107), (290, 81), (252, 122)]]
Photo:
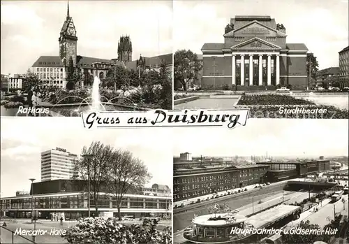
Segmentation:
[[(77, 55), (117, 58), (120, 36), (133, 59), (172, 52), (172, 1), (69, 1)], [(41, 55), (59, 55), (67, 1), (1, 1), (1, 73), (25, 73)]]

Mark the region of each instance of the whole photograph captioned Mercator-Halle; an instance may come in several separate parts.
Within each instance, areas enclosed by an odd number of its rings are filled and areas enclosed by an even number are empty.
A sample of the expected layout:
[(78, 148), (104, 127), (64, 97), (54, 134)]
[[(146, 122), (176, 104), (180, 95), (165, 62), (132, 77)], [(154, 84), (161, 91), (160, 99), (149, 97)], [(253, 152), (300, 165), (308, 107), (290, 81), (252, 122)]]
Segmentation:
[(171, 137), (2, 117), (0, 243), (172, 243)]

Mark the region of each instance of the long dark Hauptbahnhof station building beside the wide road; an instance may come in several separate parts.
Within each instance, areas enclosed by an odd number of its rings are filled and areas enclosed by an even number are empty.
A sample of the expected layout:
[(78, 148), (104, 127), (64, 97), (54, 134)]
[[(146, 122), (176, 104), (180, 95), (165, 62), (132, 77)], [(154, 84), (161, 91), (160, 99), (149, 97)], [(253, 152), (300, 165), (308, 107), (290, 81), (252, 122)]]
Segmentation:
[(328, 159), (292, 162), (260, 162), (253, 165), (233, 165), (214, 159), (174, 160), (173, 201), (192, 199), (214, 192), (245, 187), (263, 182), (277, 182), (330, 170)]

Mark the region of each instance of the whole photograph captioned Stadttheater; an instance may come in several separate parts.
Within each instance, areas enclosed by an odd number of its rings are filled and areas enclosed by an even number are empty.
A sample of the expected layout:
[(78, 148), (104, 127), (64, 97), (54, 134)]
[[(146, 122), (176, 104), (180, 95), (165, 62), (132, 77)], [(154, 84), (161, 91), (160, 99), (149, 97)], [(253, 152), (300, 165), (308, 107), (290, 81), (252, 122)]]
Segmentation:
[(348, 119), (348, 11), (348, 1), (174, 1), (174, 109)]

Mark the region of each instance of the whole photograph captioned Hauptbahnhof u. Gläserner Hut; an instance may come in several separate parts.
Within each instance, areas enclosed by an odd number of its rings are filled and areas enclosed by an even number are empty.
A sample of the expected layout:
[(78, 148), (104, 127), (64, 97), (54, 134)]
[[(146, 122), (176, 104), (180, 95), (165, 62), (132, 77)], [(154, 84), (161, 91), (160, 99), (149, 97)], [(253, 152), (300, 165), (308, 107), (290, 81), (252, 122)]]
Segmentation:
[(174, 243), (348, 243), (346, 120), (173, 130)]

